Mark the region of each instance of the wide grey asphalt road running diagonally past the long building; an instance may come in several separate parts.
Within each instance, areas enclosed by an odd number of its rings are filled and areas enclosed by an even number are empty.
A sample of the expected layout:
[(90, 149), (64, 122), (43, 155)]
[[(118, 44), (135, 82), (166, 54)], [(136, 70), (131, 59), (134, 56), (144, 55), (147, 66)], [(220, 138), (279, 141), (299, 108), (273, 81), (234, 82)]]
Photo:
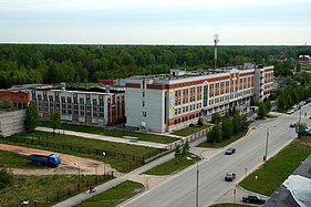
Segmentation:
[[(304, 115), (305, 112), (311, 114), (311, 107), (309, 105), (303, 106), (301, 111), (302, 115)], [(268, 128), (268, 158), (281, 151), (297, 136), (294, 128), (290, 128), (289, 125), (290, 123), (298, 122), (299, 114), (300, 112), (297, 111), (291, 115), (282, 115), (255, 126), (246, 137), (231, 144), (231, 146), (237, 149), (236, 154), (225, 155), (224, 149), (209, 161), (199, 162), (198, 166), (194, 165), (185, 169), (165, 183), (127, 201), (123, 206), (196, 206), (197, 167), (199, 170), (198, 206), (211, 205), (226, 192), (235, 188), (236, 183), (239, 183), (247, 174), (262, 164), (262, 158), (266, 154)], [(308, 117), (303, 117), (302, 121), (305, 121), (307, 124), (311, 122)], [(225, 174), (229, 170), (237, 174), (237, 179), (231, 183), (224, 180)], [(260, 178), (258, 178), (257, 182), (260, 182)], [(241, 198), (237, 198), (237, 200)]]

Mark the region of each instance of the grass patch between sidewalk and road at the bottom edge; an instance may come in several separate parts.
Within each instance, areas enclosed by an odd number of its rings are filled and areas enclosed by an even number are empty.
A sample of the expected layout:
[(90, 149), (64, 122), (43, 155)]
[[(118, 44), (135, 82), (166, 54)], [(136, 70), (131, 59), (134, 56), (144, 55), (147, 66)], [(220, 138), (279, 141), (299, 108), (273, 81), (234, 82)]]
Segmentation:
[(82, 201), (75, 207), (114, 207), (144, 190), (144, 185), (126, 180), (102, 194)]

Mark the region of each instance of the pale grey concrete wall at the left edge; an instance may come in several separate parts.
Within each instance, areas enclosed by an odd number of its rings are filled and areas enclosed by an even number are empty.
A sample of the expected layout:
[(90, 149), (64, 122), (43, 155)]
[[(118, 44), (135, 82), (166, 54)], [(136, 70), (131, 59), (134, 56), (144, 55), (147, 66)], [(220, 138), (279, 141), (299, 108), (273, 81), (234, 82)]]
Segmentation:
[(2, 136), (11, 136), (15, 133), (24, 132), (25, 110), (1, 111), (0, 112), (0, 131)]

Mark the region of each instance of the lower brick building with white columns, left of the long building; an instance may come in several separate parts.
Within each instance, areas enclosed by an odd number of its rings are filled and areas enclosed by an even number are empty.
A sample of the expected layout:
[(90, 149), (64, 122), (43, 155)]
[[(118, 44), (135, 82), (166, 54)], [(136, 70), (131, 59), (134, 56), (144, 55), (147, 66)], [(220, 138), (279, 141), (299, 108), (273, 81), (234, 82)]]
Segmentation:
[(32, 90), (32, 101), (43, 120), (55, 111), (63, 122), (104, 126), (125, 122), (124, 94), (122, 87), (66, 89), (63, 84)]

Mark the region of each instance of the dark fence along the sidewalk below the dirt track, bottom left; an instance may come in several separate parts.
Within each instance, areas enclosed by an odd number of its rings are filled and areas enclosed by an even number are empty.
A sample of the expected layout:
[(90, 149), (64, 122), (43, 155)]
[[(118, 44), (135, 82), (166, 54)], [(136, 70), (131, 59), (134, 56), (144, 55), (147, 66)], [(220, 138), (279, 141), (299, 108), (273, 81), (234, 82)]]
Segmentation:
[[(28, 201), (27, 206), (34, 206), (34, 207), (41, 207), (41, 206), (51, 206), (53, 203), (59, 203), (61, 200), (64, 200), (69, 197), (72, 197), (76, 194), (80, 193), (87, 193), (91, 186), (96, 186), (99, 184), (108, 182), (110, 179), (114, 178), (113, 177), (113, 172), (111, 172), (111, 175), (102, 175), (102, 176), (96, 176), (94, 179), (85, 179), (83, 177), (80, 183), (74, 183), (70, 187), (60, 189), (54, 193), (46, 194), (45, 196), (41, 198), (31, 198)], [(27, 200), (22, 200), (24, 203)]]

